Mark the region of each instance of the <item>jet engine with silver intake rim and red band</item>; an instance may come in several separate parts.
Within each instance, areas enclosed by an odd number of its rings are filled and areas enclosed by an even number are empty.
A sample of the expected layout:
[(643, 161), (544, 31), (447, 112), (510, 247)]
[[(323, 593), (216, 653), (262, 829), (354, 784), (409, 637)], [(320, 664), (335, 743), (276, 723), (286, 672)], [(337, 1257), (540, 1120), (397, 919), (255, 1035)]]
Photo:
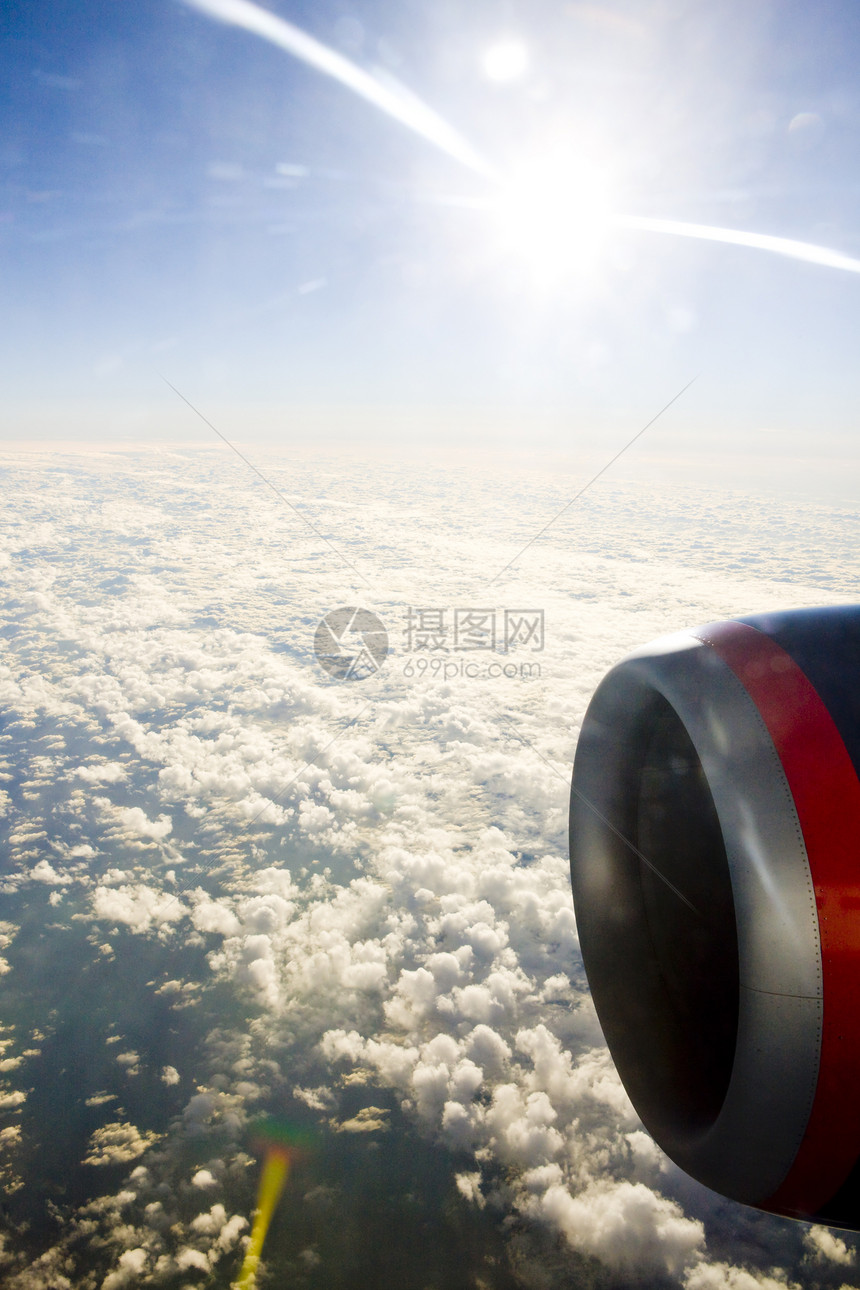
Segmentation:
[(580, 946), (642, 1122), (734, 1200), (860, 1229), (860, 606), (654, 641), (570, 804)]

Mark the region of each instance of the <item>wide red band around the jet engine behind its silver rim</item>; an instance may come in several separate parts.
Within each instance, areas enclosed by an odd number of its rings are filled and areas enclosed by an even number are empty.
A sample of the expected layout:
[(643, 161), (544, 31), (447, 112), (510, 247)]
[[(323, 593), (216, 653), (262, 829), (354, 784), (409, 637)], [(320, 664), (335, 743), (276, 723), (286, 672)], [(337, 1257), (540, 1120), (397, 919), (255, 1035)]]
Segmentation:
[(695, 635), (741, 681), (767, 726), (815, 886), (824, 974), (819, 1080), (792, 1167), (763, 1202), (808, 1216), (860, 1158), (860, 780), (821, 697), (780, 645), (747, 623)]

